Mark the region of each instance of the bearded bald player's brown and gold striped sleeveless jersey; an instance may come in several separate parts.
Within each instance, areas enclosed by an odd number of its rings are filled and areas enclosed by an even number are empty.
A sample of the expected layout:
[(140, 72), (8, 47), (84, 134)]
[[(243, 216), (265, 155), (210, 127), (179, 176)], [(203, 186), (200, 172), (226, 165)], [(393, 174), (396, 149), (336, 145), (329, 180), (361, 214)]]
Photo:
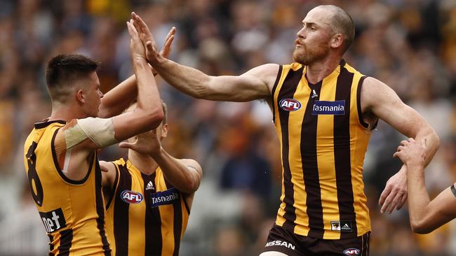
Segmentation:
[(317, 239), (370, 231), (363, 161), (370, 132), (361, 117), (365, 76), (340, 62), (311, 85), (306, 67), (283, 65), (271, 92), (281, 143), (282, 194), (276, 225)]

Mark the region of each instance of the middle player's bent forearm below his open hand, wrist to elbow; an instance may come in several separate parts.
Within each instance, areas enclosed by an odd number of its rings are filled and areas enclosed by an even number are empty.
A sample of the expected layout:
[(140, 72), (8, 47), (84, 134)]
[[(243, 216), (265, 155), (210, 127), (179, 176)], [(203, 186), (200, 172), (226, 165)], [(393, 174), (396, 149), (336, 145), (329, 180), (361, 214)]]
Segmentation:
[(163, 148), (156, 154), (151, 155), (155, 162), (159, 164), (161, 171), (166, 180), (171, 183), (177, 190), (191, 194), (199, 187), (199, 180), (195, 173), (189, 171), (187, 166), (182, 164), (166, 152)]

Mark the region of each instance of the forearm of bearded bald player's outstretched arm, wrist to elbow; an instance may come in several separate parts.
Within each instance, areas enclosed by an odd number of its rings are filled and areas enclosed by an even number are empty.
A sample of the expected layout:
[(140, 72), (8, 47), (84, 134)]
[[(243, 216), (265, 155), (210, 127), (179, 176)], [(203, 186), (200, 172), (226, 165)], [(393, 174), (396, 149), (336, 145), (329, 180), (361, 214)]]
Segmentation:
[(161, 59), (154, 69), (171, 86), (189, 96), (206, 99), (210, 95), (210, 76), (169, 59)]

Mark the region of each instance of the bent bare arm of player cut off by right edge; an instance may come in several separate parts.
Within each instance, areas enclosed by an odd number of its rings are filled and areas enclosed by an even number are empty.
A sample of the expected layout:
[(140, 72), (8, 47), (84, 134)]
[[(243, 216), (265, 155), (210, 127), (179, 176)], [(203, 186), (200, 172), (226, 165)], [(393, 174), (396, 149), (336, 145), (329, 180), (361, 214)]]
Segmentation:
[[(424, 145), (421, 145), (424, 144)], [(395, 157), (407, 166), (408, 183), (408, 212), (410, 226), (414, 232), (427, 234), (441, 227), (446, 222), (456, 218), (456, 191), (455, 184), (443, 190), (434, 200), (429, 199), (429, 194), (424, 184), (424, 159), (427, 152), (427, 141), (417, 143), (413, 138), (401, 141)]]

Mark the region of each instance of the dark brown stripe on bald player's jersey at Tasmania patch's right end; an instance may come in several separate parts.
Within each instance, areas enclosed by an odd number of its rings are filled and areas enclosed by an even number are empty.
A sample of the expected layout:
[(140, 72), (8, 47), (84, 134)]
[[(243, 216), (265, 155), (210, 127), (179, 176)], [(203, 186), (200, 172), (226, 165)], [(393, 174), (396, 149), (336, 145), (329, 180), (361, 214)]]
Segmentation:
[(350, 73), (341, 67), (335, 92), (336, 101), (345, 101), (345, 115), (334, 115), (334, 164), (337, 202), (340, 220), (351, 223), (351, 231), (341, 231), (341, 239), (352, 238), (357, 234), (350, 162), (350, 101), (353, 76), (354, 73)]

